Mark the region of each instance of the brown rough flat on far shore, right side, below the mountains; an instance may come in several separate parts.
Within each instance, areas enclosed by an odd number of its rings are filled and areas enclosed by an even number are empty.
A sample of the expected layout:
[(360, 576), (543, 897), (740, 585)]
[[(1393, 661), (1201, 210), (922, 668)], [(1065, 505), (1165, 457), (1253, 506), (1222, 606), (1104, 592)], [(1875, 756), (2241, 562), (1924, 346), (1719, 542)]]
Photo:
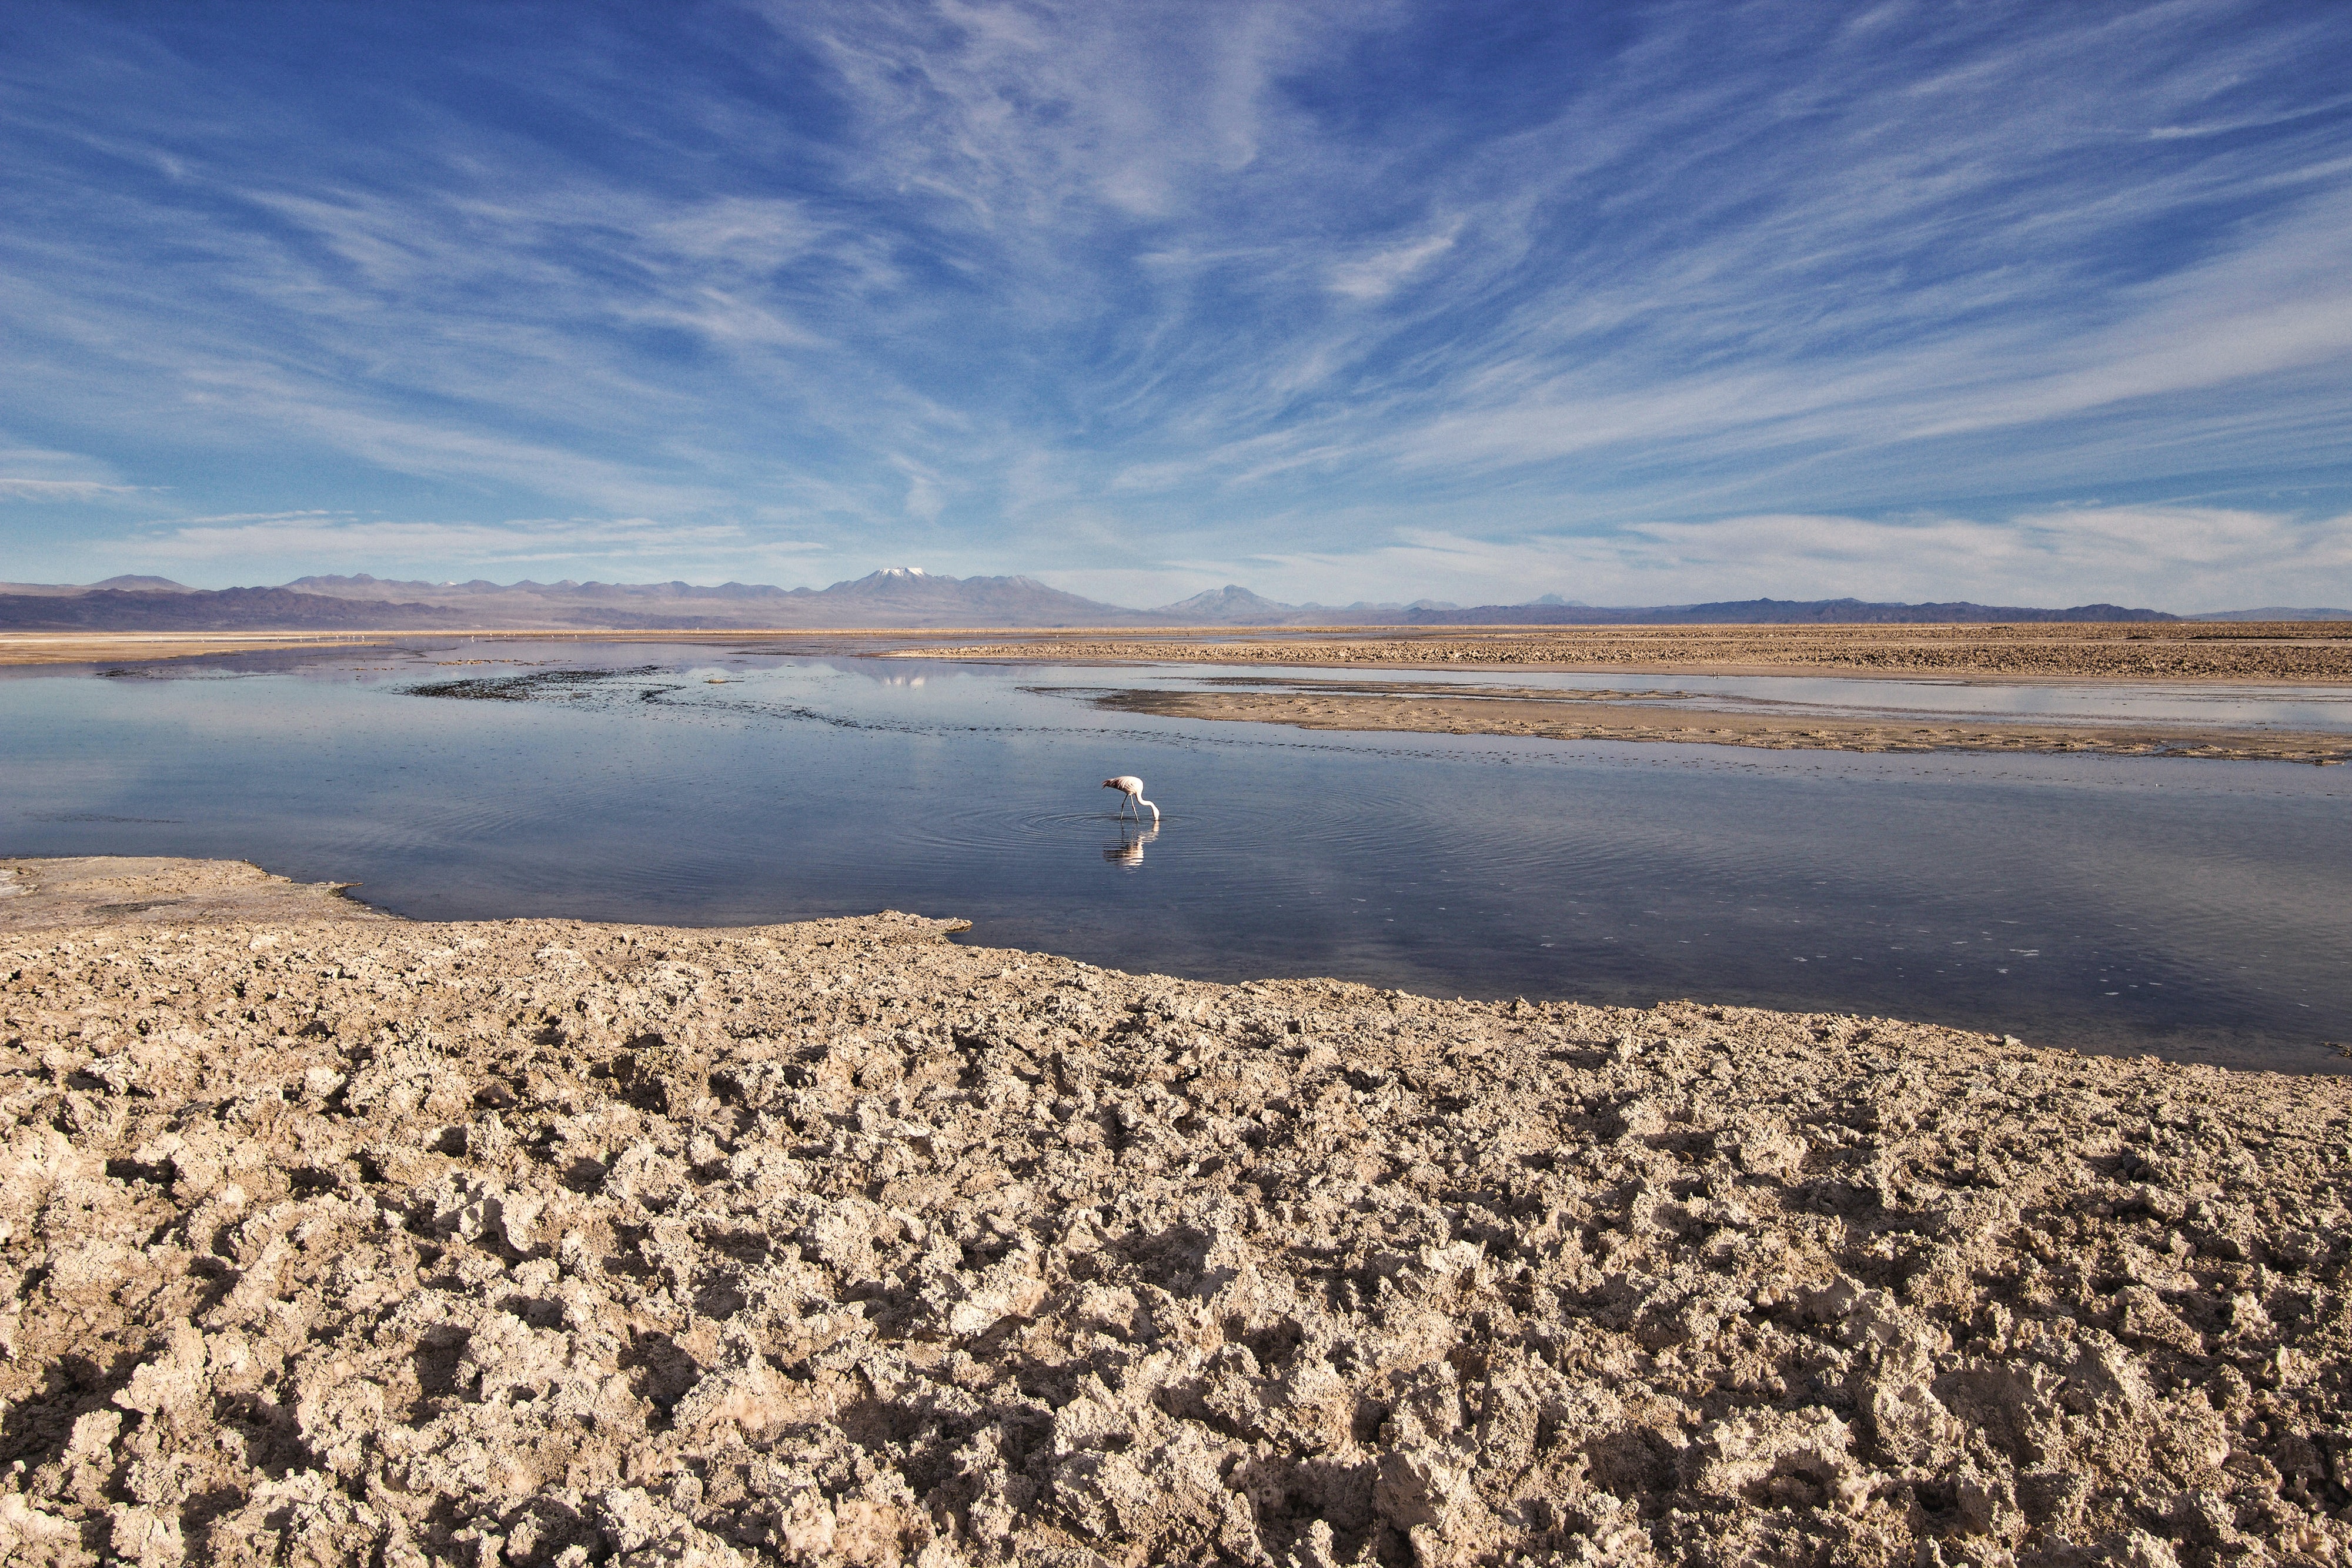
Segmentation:
[(2018, 625), (1221, 628), (1028, 635), (908, 649), (1035, 663), (1534, 665), (1724, 675), (1997, 675), (2063, 679), (2352, 682), (2345, 621), (2114, 621)]

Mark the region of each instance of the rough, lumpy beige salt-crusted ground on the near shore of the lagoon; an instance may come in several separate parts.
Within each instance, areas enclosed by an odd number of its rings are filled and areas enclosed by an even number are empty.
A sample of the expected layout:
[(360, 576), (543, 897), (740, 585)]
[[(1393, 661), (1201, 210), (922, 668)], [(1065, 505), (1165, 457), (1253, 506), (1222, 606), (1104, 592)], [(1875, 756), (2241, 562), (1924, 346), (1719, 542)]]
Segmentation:
[(2340, 1079), (45, 865), (7, 1561), (2352, 1547)]

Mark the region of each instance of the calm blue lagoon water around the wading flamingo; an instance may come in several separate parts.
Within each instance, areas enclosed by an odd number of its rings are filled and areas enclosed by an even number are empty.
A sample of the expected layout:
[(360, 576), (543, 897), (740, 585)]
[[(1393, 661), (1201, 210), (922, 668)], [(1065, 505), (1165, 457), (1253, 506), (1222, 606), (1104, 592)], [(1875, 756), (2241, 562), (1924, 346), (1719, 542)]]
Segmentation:
[(12, 672), (0, 853), (242, 856), (416, 919), (901, 907), (1202, 978), (2352, 1067), (2324, 1044), (2352, 1039), (2345, 769), (1310, 733), (1103, 715), (1103, 684), (656, 644)]

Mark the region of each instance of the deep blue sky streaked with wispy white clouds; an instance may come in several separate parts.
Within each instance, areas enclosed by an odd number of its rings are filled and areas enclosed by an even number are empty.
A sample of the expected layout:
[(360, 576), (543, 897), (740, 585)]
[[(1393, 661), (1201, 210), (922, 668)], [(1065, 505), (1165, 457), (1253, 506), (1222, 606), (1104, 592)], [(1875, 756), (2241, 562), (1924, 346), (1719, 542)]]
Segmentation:
[(2352, 602), (2352, 5), (0, 12), (0, 578)]

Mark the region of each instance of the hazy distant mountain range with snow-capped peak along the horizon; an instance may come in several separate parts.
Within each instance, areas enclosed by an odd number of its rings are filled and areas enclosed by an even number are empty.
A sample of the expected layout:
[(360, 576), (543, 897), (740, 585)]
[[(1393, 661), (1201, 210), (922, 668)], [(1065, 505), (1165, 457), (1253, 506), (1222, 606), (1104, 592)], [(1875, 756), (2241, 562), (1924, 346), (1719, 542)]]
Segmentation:
[(2232, 609), (2169, 616), (2122, 604), (1872, 604), (1729, 599), (1597, 607), (1543, 595), (1526, 604), (1282, 604), (1237, 583), (1157, 609), (1082, 599), (1025, 576), (931, 576), (894, 567), (830, 588), (760, 583), (405, 583), (306, 576), (278, 588), (186, 588), (158, 576), (103, 583), (0, 583), (0, 630), (851, 630), (1143, 625), (1893, 625), (1987, 621), (2352, 621), (2345, 609)]

